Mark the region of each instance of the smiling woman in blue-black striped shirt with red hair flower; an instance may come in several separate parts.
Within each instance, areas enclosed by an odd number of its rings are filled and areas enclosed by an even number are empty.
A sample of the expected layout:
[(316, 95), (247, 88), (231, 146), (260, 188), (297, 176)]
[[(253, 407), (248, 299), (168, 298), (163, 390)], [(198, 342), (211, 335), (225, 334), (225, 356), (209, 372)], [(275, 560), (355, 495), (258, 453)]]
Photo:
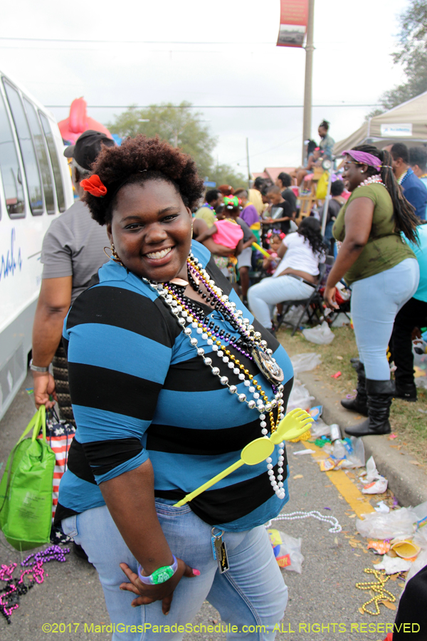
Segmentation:
[(77, 432), (56, 518), (97, 568), (112, 622), (145, 623), (120, 641), (180, 640), (205, 598), (273, 640), (287, 588), (263, 523), (288, 501), (283, 442), (175, 504), (276, 429), (290, 360), (191, 241), (202, 182), (189, 156), (137, 137), (93, 171), (86, 200), (113, 255), (65, 322)]

